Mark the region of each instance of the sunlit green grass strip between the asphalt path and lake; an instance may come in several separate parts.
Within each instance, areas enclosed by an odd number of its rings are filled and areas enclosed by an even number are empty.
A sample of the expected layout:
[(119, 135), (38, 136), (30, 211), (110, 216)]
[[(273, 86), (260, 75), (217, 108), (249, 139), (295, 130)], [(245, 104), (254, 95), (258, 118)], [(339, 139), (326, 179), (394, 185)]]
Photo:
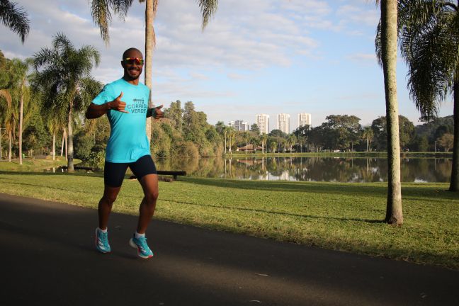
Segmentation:
[[(386, 183), (160, 182), (155, 218), (459, 270), (459, 196), (447, 183), (404, 183), (405, 222), (385, 216)], [(98, 174), (0, 172), (1, 192), (96, 208)], [(142, 190), (126, 179), (114, 205), (137, 215)], [(96, 214), (96, 212), (94, 212)]]

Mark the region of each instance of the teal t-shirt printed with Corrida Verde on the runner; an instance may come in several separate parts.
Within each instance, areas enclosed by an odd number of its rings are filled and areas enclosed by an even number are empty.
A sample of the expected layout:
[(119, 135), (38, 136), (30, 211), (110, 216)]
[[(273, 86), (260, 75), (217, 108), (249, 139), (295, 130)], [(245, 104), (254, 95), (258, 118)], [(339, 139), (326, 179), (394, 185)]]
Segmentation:
[(106, 149), (106, 161), (113, 163), (135, 162), (142, 156), (149, 155), (149, 142), (145, 125), (149, 89), (144, 84), (133, 85), (119, 79), (103, 87), (92, 103), (101, 105), (115, 100), (123, 91), (121, 101), (126, 103), (125, 111), (107, 112), (111, 132)]

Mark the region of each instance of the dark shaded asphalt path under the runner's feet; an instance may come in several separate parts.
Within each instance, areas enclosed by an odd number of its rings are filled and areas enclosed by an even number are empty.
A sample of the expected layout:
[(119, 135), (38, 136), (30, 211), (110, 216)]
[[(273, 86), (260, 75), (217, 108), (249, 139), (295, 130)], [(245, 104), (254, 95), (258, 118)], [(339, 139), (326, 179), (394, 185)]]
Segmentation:
[[(116, 205), (116, 203), (115, 203)], [(128, 245), (137, 217), (0, 193), (0, 305), (459, 305), (459, 271), (152, 220), (155, 255)]]

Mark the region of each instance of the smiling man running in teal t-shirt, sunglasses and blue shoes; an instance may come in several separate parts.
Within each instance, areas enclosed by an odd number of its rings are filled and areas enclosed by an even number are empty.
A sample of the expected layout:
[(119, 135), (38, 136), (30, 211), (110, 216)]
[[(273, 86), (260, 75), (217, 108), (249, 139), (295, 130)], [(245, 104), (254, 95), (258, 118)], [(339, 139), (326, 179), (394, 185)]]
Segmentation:
[(137, 230), (129, 241), (143, 259), (153, 256), (145, 232), (154, 214), (158, 198), (157, 169), (150, 155), (145, 125), (147, 118), (162, 118), (162, 106), (148, 108), (149, 89), (139, 82), (143, 69), (142, 52), (130, 48), (123, 53), (121, 66), (124, 76), (103, 87), (86, 111), (86, 118), (94, 119), (107, 114), (111, 126), (103, 171), (105, 188), (98, 203), (96, 249), (111, 251), (108, 243), (108, 216), (112, 210), (128, 167), (137, 176), (144, 192), (140, 203)]

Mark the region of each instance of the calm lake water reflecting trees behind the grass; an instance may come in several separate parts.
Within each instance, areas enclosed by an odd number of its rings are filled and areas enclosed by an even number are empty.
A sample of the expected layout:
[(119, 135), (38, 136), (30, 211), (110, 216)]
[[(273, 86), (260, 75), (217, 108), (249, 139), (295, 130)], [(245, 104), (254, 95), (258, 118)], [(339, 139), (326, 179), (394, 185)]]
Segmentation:
[[(451, 159), (401, 160), (403, 182), (448, 182)], [(183, 170), (191, 176), (285, 181), (387, 181), (387, 159), (339, 157), (265, 157), (159, 159), (158, 169)]]

